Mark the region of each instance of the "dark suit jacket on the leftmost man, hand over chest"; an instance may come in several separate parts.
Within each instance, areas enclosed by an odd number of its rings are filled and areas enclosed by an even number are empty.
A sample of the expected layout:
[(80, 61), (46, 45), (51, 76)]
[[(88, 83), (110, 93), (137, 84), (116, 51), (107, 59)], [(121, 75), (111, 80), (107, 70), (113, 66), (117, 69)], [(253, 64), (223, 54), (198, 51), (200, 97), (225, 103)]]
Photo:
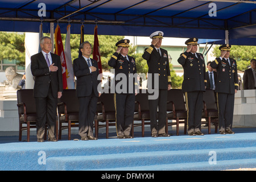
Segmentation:
[(58, 70), (50, 72), (42, 52), (31, 56), (31, 73), (35, 76), (34, 97), (47, 97), (51, 84), (52, 95), (57, 98), (57, 92), (63, 91), (60, 56), (51, 53), (52, 63)]

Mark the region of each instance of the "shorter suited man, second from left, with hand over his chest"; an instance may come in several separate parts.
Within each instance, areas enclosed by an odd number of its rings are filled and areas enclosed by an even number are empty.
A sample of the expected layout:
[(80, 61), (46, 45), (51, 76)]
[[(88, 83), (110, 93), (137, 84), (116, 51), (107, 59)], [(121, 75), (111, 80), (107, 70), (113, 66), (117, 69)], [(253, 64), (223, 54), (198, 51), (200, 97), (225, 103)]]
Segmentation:
[(73, 61), (73, 71), (77, 78), (76, 96), (79, 98), (79, 135), (81, 140), (96, 140), (93, 137), (93, 121), (96, 114), (98, 97), (97, 86), (100, 84), (98, 77), (98, 63), (90, 59), (91, 44), (86, 41), (81, 43), (82, 56)]

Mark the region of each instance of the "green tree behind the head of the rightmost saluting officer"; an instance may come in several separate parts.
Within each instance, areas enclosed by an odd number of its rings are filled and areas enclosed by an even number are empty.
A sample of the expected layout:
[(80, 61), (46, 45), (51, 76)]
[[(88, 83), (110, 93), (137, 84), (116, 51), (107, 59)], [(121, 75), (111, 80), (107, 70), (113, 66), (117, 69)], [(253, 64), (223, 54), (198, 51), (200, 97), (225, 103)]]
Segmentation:
[[(213, 55), (218, 57), (221, 51), (218, 49), (220, 45), (213, 48)], [(256, 46), (232, 46), (230, 57), (237, 61), (237, 69), (245, 71), (250, 65), (250, 60), (256, 57)]]

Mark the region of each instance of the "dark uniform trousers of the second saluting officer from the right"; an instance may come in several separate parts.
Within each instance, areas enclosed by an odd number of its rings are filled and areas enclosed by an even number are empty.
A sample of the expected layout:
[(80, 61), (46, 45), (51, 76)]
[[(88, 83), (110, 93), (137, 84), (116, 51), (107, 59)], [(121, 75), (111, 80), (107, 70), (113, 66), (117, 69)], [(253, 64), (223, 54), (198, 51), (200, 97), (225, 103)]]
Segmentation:
[(187, 105), (188, 134), (201, 131), (203, 91), (185, 92)]

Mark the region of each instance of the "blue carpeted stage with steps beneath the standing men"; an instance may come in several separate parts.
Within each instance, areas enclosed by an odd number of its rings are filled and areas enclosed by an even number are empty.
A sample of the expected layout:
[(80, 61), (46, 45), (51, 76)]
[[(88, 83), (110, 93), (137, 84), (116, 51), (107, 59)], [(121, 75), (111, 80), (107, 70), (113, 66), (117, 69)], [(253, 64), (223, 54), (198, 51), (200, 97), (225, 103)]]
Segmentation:
[[(204, 133), (207, 129), (204, 127)], [(234, 135), (212, 134), (58, 142), (18, 142), (0, 137), (0, 170), (224, 170), (256, 167), (256, 129), (235, 128)], [(175, 133), (171, 131), (170, 133)], [(114, 133), (110, 137), (114, 136)], [(66, 138), (65, 138), (66, 137)], [(72, 135), (72, 139), (79, 135)], [(23, 137), (24, 139), (24, 137)], [(80, 138), (79, 138), (80, 139)]]

